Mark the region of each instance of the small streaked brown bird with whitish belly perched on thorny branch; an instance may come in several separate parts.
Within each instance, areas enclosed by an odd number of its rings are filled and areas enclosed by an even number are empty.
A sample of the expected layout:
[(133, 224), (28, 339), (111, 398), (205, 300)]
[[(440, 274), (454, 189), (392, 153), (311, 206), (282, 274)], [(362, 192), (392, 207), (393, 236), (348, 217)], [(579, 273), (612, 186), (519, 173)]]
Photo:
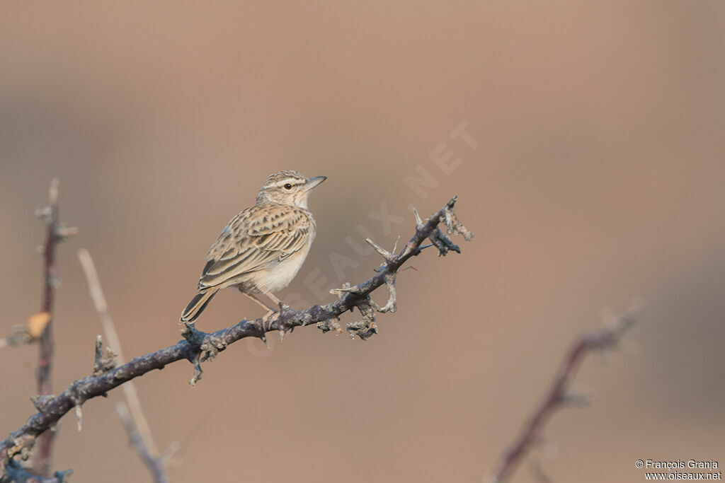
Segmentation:
[(181, 314), (181, 322), (193, 322), (212, 297), (223, 288), (241, 293), (275, 311), (257, 298), (283, 289), (299, 271), (315, 239), (315, 219), (307, 209), (307, 197), (324, 176), (306, 178), (297, 171), (270, 175), (257, 194), (257, 203), (233, 217), (207, 253), (197, 293)]

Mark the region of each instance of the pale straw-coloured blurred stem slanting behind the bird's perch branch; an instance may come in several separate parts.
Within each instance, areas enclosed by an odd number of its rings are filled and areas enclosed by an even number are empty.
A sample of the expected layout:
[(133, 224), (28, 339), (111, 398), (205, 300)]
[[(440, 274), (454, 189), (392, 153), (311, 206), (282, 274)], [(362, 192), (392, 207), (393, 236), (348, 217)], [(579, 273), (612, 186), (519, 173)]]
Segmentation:
[[(101, 325), (103, 326), (109, 345), (106, 356), (104, 356), (101, 336), (99, 335), (96, 341), (96, 364), (94, 365), (94, 375), (99, 375), (114, 369), (117, 364), (123, 364), (125, 360), (121, 350), (120, 338), (113, 324), (113, 319), (111, 319), (111, 315), (108, 312), (108, 304), (106, 303), (106, 298), (103, 294), (103, 288), (101, 287), (98, 272), (96, 272), (96, 266), (91, 258), (91, 253), (88, 253), (88, 250), (85, 248), (81, 248), (78, 251), (78, 259), (83, 266), (83, 272), (86, 274), (88, 293), (91, 295), (94, 306), (96, 306), (96, 311), (101, 319)], [(170, 456), (178, 450), (178, 444), (172, 445), (164, 455), (159, 455), (151, 427), (149, 427), (149, 422), (146, 420), (146, 416), (144, 416), (144, 411), (141, 410), (141, 400), (138, 398), (136, 385), (133, 384), (133, 381), (128, 381), (121, 386), (121, 389), (123, 390), (126, 403), (118, 403), (116, 405), (116, 413), (128, 433), (131, 445), (133, 445), (138, 455), (141, 456), (144, 464), (149, 467), (149, 471), (151, 471), (154, 477), (154, 482), (168, 483), (169, 479), (166, 476), (165, 465)]]

